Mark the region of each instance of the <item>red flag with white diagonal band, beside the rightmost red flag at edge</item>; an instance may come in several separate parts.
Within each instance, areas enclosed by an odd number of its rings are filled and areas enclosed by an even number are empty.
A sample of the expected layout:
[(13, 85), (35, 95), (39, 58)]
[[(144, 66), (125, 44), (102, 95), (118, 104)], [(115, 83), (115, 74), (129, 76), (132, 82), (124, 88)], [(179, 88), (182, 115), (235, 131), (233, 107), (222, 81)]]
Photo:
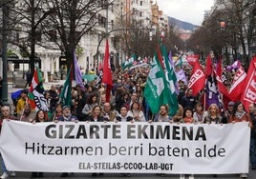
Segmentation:
[(240, 68), (236, 71), (231, 88), (229, 89), (229, 98), (231, 101), (239, 101), (241, 99), (241, 95), (245, 89), (245, 77), (245, 70), (242, 66), (240, 66)]

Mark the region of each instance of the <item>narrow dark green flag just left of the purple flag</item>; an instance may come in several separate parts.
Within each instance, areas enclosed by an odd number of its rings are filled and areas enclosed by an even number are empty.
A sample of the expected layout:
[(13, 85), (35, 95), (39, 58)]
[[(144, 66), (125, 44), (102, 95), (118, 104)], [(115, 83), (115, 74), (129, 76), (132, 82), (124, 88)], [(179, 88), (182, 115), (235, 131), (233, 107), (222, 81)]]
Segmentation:
[(72, 72), (71, 70), (73, 67), (70, 68), (66, 81), (64, 83), (63, 88), (61, 89), (59, 98), (61, 100), (62, 106), (69, 106), (71, 107), (71, 89), (72, 89)]

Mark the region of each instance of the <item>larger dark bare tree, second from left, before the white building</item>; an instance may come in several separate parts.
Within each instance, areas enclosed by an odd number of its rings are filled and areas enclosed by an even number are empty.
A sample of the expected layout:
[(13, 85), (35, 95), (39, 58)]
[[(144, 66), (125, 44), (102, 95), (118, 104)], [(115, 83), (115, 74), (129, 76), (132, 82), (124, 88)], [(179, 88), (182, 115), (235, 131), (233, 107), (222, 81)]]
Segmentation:
[(98, 18), (99, 12), (112, 5), (113, 0), (48, 0), (47, 9), (53, 13), (42, 25), (45, 33), (49, 37), (54, 36), (55, 45), (65, 53), (68, 68), (74, 62), (75, 47), (81, 37), (97, 34), (96, 27), (100, 21), (102, 23), (102, 18)]

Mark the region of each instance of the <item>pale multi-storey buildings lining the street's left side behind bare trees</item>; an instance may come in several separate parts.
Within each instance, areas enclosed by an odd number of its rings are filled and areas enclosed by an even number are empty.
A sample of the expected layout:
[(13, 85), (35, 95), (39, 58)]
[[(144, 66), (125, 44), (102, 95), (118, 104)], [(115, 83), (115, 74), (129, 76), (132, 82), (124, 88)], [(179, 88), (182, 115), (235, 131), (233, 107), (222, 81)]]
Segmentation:
[[(127, 58), (127, 50), (125, 50), (124, 36), (127, 35), (127, 39), (131, 40), (132, 31), (138, 30), (139, 32), (147, 33), (149, 35), (150, 30), (164, 30), (168, 25), (167, 16), (159, 10), (157, 3), (154, 5), (152, 0), (105, 0), (106, 2), (113, 2), (108, 9), (96, 11), (95, 17), (92, 22), (96, 22), (96, 28), (92, 32), (87, 32), (81, 36), (79, 43), (76, 46), (78, 51), (77, 59), (78, 64), (82, 72), (86, 73), (90, 70), (96, 70), (98, 63), (102, 61), (105, 52), (105, 39), (108, 37), (110, 44), (111, 63), (114, 65), (120, 65), (123, 60)], [(44, 2), (48, 2), (45, 0)], [(25, 10), (25, 2), (16, 1), (15, 7), (17, 10)], [(40, 5), (40, 9), (47, 11), (49, 4)], [(13, 7), (13, 9), (15, 9)], [(49, 9), (50, 10), (50, 9)], [(1, 11), (1, 10), (0, 10)], [(28, 15), (30, 10), (27, 10)], [(62, 10), (65, 15), (65, 11)], [(38, 13), (35, 20), (38, 20), (42, 15), (42, 11)], [(20, 13), (17, 18), (21, 17)], [(47, 19), (46, 19), (47, 20)], [(87, 20), (87, 19), (85, 19)], [(2, 22), (2, 21), (1, 21)], [(30, 22), (28, 19), (21, 20), (19, 24), (15, 24), (13, 32), (11, 34), (12, 40), (21, 42), (30, 37)], [(65, 22), (64, 22), (65, 23)], [(47, 21), (45, 25), (47, 24)], [(78, 29), (77, 29), (78, 30)], [(46, 36), (51, 38), (46, 38)], [(36, 45), (35, 54), (41, 59), (40, 68), (44, 71), (45, 78), (47, 74), (55, 75), (61, 70), (61, 67), (66, 64), (63, 50), (55, 43), (57, 30), (49, 29), (43, 31), (43, 27), (39, 27), (36, 30)], [(61, 43), (58, 43), (61, 45)], [(27, 46), (30, 48), (30, 46)], [(9, 50), (17, 54), (20, 59), (26, 59), (24, 54), (21, 53), (18, 46), (11, 45)], [(1, 66), (1, 63), (0, 63)], [(2, 69), (2, 68), (1, 68)], [(14, 67), (10, 64), (10, 70), (29, 70), (29, 65), (22, 63), (19, 67)], [(1, 74), (0, 74), (1, 75)]]

